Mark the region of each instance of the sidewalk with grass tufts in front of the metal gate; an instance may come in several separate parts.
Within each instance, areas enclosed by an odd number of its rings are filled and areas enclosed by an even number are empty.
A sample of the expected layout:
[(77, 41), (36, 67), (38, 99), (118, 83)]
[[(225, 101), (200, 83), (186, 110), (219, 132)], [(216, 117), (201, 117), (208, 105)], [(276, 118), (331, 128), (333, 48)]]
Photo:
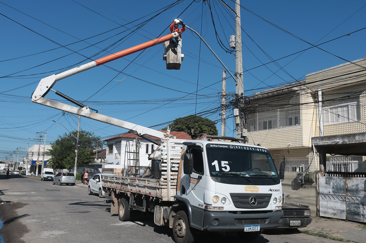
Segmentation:
[(366, 243), (366, 224), (341, 219), (312, 218), (313, 221), (307, 227), (299, 228), (300, 232), (343, 242)]

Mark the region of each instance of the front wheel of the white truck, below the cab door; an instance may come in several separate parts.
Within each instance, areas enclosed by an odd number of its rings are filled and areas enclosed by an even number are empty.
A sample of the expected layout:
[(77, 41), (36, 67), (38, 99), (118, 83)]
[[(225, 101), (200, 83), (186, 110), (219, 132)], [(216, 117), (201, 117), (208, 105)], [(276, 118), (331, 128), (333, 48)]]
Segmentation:
[(189, 227), (186, 212), (179, 211), (173, 220), (173, 236), (176, 243), (193, 243), (194, 238)]

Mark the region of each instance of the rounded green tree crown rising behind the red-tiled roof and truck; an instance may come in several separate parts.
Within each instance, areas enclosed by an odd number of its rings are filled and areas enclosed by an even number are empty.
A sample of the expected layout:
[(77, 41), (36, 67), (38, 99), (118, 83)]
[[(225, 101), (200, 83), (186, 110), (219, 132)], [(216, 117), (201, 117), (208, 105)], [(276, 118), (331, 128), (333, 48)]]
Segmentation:
[[(194, 129), (196, 134), (207, 133), (208, 135), (216, 136), (219, 131), (216, 128), (215, 123), (202, 116), (189, 115), (186, 117), (176, 118), (172, 125), (172, 131), (189, 133), (191, 129)], [(163, 130), (167, 130), (165, 127)]]

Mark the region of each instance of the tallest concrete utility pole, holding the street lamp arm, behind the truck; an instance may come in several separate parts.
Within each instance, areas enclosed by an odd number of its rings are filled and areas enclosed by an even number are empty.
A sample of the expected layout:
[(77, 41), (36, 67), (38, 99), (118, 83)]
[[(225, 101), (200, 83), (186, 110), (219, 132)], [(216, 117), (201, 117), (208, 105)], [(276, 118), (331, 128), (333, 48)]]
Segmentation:
[[(243, 85), (243, 56), (242, 56), (242, 29), (240, 24), (240, 0), (235, 0), (235, 73), (236, 73), (236, 84), (235, 94), (239, 98), (243, 97), (244, 85)], [(242, 112), (241, 103), (238, 105), (238, 117), (235, 117), (236, 137), (241, 138), (242, 136), (242, 123), (240, 120), (240, 114)]]

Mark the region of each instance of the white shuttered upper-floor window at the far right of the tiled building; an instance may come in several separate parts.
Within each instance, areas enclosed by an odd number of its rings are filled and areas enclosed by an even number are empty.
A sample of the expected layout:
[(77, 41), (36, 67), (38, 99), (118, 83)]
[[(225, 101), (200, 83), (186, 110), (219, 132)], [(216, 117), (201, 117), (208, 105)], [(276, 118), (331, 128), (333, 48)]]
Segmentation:
[(324, 104), (324, 125), (360, 120), (359, 105), (356, 99), (337, 100)]

